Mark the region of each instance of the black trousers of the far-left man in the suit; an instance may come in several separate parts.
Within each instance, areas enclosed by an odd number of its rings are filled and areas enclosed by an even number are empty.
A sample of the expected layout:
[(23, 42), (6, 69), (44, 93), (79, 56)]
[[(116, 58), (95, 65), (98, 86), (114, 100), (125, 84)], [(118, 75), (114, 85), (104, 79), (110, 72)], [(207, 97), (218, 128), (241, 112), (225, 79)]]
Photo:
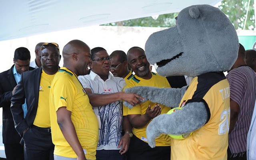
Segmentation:
[(17, 144), (4, 144), (4, 152), (7, 160), (24, 160), (23, 146)]

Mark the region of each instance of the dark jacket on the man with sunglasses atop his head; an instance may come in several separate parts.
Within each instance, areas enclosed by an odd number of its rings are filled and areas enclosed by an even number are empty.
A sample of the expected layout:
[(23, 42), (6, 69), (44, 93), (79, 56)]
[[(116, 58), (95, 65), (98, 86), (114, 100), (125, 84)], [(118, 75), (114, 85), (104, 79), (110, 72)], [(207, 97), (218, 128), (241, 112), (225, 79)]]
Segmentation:
[[(12, 96), (11, 111), (14, 119), (14, 125), (17, 132), (22, 136), (22, 132), (33, 125), (38, 106), (39, 86), (42, 74), (42, 68), (22, 73), (21, 80)], [(22, 104), (25, 101), (28, 113), (24, 118)]]

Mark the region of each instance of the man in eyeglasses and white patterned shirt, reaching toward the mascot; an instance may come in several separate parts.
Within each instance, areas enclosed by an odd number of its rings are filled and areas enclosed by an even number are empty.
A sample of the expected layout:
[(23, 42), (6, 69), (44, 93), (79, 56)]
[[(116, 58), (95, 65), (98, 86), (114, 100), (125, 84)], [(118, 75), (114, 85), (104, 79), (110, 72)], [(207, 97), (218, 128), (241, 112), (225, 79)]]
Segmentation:
[[(111, 58), (104, 48), (91, 50), (92, 64), (89, 75), (79, 76), (84, 90), (88, 94), (99, 122), (99, 142), (97, 160), (124, 160), (130, 143), (131, 125), (128, 118), (122, 116), (122, 100), (136, 105), (140, 103), (136, 94), (122, 92), (125, 86), (123, 78), (110, 74)], [(125, 134), (122, 136), (122, 121)]]

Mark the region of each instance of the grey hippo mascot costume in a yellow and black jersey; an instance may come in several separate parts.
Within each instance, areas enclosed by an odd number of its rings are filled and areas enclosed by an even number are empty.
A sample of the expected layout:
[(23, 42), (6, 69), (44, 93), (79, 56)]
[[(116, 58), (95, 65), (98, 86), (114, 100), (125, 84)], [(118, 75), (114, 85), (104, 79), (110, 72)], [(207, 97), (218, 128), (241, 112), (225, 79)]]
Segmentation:
[[(145, 45), (146, 56), (161, 76), (194, 77), (183, 88), (137, 86), (125, 92), (172, 108), (172, 114), (154, 118), (146, 129), (153, 148), (160, 134), (183, 135), (171, 139), (172, 160), (227, 159), (230, 119), (230, 70), (238, 55), (236, 30), (226, 15), (209, 5), (184, 8), (176, 26), (153, 33)], [(131, 104), (124, 102), (132, 108)], [(184, 136), (185, 135), (185, 136)], [(180, 140), (182, 139), (182, 140)]]

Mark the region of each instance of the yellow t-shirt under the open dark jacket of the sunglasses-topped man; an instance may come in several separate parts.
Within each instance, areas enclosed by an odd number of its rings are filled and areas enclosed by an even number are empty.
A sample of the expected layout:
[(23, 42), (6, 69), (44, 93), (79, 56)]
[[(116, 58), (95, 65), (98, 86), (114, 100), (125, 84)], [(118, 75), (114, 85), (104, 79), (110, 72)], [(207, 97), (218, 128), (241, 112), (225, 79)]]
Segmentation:
[(42, 128), (50, 128), (50, 111), (49, 111), (49, 92), (52, 84), (52, 80), (56, 74), (50, 75), (46, 74), (42, 69), (40, 87), (39, 87), (39, 97), (38, 106), (36, 111), (36, 118), (34, 120), (34, 125)]

